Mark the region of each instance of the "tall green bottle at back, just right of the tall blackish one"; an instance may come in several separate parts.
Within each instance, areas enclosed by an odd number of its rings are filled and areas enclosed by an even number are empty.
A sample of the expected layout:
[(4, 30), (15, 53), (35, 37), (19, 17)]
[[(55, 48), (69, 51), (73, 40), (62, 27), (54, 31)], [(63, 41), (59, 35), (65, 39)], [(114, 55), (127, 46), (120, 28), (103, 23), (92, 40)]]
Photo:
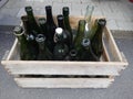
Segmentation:
[(69, 7), (63, 7), (62, 9), (62, 13), (63, 13), (63, 16), (64, 16), (64, 26), (65, 26), (65, 30), (69, 31), (70, 35), (71, 35), (71, 42), (73, 43), (73, 33), (72, 33), (72, 28), (70, 25), (70, 10), (69, 10)]

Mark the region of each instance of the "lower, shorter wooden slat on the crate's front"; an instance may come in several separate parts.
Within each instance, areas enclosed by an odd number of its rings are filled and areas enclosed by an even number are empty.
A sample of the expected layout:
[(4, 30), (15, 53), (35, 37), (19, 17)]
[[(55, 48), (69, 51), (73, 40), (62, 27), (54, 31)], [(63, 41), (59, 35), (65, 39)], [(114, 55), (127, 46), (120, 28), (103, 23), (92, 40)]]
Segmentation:
[(14, 78), (23, 88), (108, 88), (113, 78)]

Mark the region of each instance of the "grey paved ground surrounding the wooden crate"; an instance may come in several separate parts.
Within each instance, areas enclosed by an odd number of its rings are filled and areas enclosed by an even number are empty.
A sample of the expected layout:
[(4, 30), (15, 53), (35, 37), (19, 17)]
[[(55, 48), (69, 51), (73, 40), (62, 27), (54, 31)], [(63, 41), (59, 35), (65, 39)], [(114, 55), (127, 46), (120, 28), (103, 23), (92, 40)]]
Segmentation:
[[(69, 6), (71, 14), (83, 15), (83, 9), (89, 3), (95, 6), (95, 15), (106, 16), (111, 30), (132, 33), (133, 3), (129, 0), (10, 0), (0, 9), (0, 61), (14, 41), (13, 28), (7, 25), (19, 24), (24, 6), (33, 6), (34, 13), (40, 15), (44, 14), (45, 4), (53, 6), (53, 14), (61, 12), (62, 6)], [(17, 86), (0, 64), (0, 99), (133, 99), (133, 35), (115, 41), (127, 58), (129, 67), (108, 89), (23, 89)]]

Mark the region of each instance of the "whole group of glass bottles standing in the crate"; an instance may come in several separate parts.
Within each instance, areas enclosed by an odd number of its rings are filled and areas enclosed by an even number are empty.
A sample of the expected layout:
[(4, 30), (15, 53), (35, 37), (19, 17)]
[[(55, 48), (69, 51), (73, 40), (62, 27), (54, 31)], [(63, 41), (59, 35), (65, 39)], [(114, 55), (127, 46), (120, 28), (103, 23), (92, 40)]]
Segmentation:
[(25, 7), (27, 15), (21, 16), (22, 26), (14, 28), (20, 44), (22, 61), (100, 61), (103, 53), (102, 33), (105, 19), (96, 19), (92, 25), (94, 7), (88, 6), (84, 19), (78, 30), (71, 28), (70, 10), (62, 8), (52, 15), (52, 7), (45, 6), (45, 18), (35, 18), (32, 7)]

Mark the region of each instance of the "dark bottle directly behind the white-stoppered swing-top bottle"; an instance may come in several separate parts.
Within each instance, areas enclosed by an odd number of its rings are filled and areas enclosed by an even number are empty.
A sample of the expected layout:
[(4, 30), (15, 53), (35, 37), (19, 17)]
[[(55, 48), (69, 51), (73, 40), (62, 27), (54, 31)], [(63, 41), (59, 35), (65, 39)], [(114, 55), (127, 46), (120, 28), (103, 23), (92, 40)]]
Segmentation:
[(62, 28), (63, 29), (63, 36), (64, 36), (64, 43), (69, 46), (69, 50), (71, 48), (72, 46), (72, 41), (71, 41), (71, 34), (70, 32), (65, 29), (64, 26), (64, 19), (63, 19), (63, 15), (62, 14), (59, 14), (57, 16), (58, 19), (58, 26), (59, 28)]

